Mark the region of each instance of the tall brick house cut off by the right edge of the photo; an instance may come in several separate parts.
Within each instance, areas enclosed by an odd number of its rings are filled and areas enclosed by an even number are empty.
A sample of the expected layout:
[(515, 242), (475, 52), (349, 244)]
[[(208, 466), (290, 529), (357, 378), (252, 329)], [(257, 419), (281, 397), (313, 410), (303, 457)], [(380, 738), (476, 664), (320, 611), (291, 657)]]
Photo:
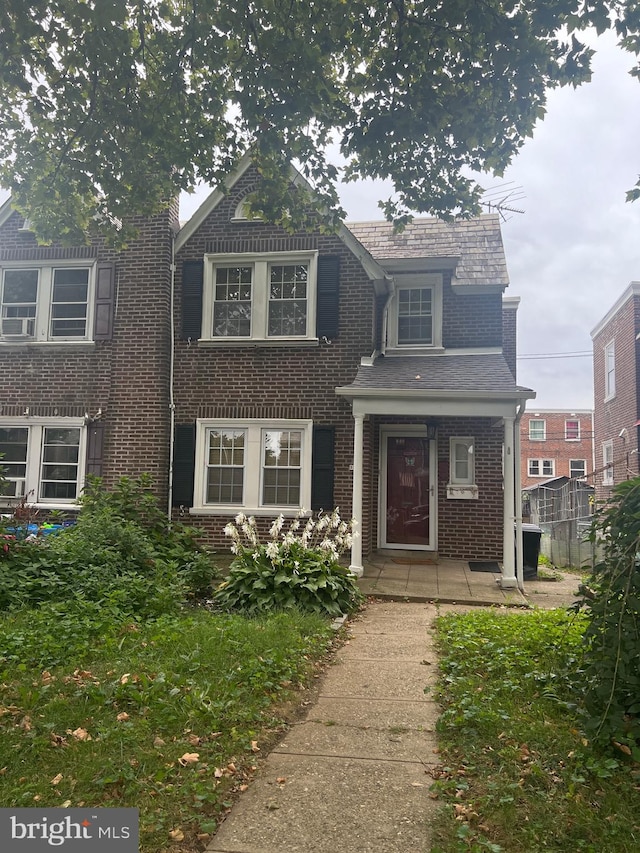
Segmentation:
[(640, 282), (634, 281), (591, 332), (596, 498), (638, 476)]

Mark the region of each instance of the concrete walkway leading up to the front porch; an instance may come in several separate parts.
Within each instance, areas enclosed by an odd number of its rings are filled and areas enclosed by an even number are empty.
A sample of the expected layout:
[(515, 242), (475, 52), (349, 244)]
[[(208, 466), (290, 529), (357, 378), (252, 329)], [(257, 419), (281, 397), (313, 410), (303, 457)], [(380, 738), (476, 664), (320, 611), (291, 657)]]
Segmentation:
[(433, 604), (372, 602), (207, 853), (429, 850)]

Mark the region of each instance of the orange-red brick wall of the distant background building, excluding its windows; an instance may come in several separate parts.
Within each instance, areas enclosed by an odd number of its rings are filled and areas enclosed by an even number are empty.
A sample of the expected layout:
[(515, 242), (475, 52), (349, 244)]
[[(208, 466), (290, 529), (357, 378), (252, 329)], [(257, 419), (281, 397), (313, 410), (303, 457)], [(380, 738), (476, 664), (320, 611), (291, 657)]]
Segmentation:
[[(579, 441), (567, 441), (565, 439), (565, 422), (568, 420), (580, 421)], [(529, 440), (530, 421), (545, 421), (546, 439), (544, 441)], [(523, 486), (535, 486), (552, 477), (568, 477), (571, 459), (584, 459), (587, 475), (591, 474), (593, 471), (591, 412), (571, 409), (544, 412), (532, 408), (530, 412), (525, 412), (520, 421), (520, 451)], [(553, 459), (555, 472), (544, 476), (541, 474), (539, 477), (530, 477), (528, 475), (529, 459)], [(542, 470), (542, 464), (540, 470)]]

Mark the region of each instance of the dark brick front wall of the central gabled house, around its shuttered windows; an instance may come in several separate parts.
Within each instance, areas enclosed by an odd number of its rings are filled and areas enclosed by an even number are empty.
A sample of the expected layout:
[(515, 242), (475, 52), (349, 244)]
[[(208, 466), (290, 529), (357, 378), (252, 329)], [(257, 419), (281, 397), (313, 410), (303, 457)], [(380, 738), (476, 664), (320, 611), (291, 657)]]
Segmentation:
[[(182, 299), (182, 264), (201, 259), (206, 251), (225, 251), (225, 241), (243, 251), (264, 250), (265, 242), (291, 238), (282, 230), (261, 222), (231, 222), (230, 219), (248, 189), (247, 174), (212, 212), (176, 258), (175, 316), (179, 336)], [(344, 398), (335, 389), (350, 384), (362, 356), (374, 349), (376, 299), (374, 288), (358, 260), (336, 236), (320, 233), (299, 235), (305, 247), (321, 255), (340, 256), (340, 327), (330, 344), (318, 346), (229, 346), (198, 347), (186, 341), (176, 343), (175, 406), (176, 423), (190, 423), (199, 417), (298, 418), (335, 427), (334, 502), (343, 517), (352, 511), (353, 416)], [(277, 243), (273, 244), (277, 250)], [(371, 467), (365, 460), (365, 470)], [(205, 531), (207, 540), (226, 546), (223, 529), (226, 516), (191, 516)], [(371, 507), (364, 509), (364, 542), (368, 548)], [(262, 523), (263, 526), (267, 522)]]

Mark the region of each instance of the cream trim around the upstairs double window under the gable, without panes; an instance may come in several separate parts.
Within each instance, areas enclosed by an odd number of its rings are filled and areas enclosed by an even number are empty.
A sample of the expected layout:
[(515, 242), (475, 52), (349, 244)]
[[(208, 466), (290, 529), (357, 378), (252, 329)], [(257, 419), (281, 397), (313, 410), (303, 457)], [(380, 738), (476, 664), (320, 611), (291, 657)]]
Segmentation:
[[(208, 254), (204, 256), (204, 288), (202, 296), (202, 328), (200, 340), (220, 346), (243, 344), (259, 341), (261, 343), (286, 344), (289, 341), (317, 341), (316, 337), (316, 294), (318, 280), (318, 252), (269, 252)], [(269, 264), (309, 265), (307, 281), (307, 334), (306, 335), (268, 335), (269, 287), (267, 270)], [(242, 336), (221, 336), (213, 334), (213, 308), (215, 302), (216, 266), (251, 266), (254, 268), (251, 287), (251, 334)]]

